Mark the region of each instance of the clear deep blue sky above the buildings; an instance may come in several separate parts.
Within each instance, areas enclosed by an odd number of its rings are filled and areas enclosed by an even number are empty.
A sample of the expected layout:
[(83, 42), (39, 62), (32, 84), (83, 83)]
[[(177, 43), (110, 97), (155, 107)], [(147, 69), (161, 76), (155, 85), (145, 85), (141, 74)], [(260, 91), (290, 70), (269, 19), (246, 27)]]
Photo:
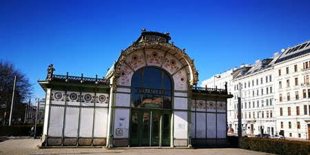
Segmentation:
[(0, 59), (45, 93), (54, 74), (102, 77), (141, 29), (170, 33), (199, 70), (199, 82), (310, 39), (310, 1), (0, 0)]

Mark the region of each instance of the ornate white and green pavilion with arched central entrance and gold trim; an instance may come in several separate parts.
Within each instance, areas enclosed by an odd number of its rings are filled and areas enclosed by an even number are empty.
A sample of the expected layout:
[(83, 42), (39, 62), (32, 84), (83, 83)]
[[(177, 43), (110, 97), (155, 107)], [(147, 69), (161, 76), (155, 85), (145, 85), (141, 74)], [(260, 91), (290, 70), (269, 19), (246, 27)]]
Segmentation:
[(50, 65), (41, 146), (225, 147), (225, 89), (196, 87), (198, 72), (169, 33), (146, 32), (104, 79), (53, 74)]

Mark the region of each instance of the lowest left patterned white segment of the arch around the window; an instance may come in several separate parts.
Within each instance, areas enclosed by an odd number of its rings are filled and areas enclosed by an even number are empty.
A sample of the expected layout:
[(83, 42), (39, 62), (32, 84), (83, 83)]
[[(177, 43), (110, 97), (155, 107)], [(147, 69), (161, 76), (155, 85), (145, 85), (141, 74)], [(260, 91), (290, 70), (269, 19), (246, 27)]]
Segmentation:
[(132, 84), (132, 75), (134, 72), (125, 63), (121, 66), (120, 77), (117, 79), (117, 85), (130, 86)]

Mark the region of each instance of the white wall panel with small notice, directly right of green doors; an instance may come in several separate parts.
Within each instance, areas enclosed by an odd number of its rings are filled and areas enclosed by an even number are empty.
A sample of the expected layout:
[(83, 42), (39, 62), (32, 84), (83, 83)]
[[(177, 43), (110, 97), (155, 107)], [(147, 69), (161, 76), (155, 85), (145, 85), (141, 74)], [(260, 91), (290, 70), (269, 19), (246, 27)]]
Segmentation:
[(187, 112), (174, 112), (174, 138), (188, 138)]

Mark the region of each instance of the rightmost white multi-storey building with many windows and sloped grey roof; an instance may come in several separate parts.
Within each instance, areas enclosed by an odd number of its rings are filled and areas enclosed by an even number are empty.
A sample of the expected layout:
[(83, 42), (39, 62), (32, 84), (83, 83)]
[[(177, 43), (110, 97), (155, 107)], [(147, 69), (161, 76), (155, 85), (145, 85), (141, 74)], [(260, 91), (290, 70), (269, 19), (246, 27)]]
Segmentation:
[(309, 139), (310, 41), (287, 48), (274, 65), (277, 129), (287, 139)]

